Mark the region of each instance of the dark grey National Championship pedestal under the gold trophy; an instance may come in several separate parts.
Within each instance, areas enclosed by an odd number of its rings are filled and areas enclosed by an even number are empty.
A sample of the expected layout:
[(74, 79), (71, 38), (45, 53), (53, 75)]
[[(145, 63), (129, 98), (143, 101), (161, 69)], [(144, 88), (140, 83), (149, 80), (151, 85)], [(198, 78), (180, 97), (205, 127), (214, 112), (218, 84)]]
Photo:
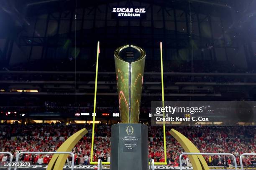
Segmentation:
[(110, 170), (148, 170), (147, 125), (112, 125)]

